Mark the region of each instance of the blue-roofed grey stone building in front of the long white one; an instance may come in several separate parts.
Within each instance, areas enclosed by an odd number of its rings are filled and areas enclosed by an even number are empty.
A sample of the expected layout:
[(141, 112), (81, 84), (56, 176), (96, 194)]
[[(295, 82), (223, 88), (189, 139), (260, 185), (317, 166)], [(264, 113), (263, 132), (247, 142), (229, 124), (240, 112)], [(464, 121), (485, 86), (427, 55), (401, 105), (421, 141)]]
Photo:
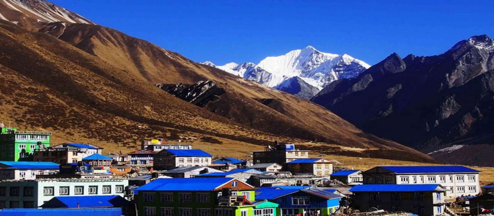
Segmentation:
[(439, 184), (359, 184), (353, 193), (353, 207), (361, 212), (384, 210), (409, 212), (420, 216), (444, 214), (446, 189)]

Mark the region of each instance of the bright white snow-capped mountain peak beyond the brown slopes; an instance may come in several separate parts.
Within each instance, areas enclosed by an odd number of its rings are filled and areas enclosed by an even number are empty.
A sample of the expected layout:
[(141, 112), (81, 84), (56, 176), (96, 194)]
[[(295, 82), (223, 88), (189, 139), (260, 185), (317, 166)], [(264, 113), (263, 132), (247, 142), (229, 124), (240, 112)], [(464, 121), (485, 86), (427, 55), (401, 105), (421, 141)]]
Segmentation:
[[(211, 62), (204, 62), (203, 64), (249, 80), (255, 80), (270, 87), (276, 88), (285, 80), (297, 76), (318, 89), (324, 88), (337, 79), (356, 77), (371, 67), (347, 54), (324, 53), (312, 46), (292, 50), (282, 56), (267, 57), (257, 65), (233, 62), (223, 66), (216, 66)], [(284, 83), (283, 86), (286, 87), (287, 83)]]

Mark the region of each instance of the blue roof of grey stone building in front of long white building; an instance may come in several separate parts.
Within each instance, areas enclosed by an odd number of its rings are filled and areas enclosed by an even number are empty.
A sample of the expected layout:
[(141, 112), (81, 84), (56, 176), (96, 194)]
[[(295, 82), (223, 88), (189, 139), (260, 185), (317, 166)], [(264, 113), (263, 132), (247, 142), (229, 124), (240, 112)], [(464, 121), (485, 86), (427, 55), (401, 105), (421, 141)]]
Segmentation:
[(357, 184), (350, 192), (420, 192), (434, 191), (439, 184)]

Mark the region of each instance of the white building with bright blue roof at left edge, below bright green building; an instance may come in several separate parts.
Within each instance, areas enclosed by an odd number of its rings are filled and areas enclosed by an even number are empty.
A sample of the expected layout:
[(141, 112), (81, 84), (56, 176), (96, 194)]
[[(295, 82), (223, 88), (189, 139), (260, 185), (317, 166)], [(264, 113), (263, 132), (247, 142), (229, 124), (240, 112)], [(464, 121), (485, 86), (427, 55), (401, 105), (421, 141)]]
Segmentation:
[(59, 165), (53, 162), (0, 161), (0, 180), (33, 180), (58, 170)]

